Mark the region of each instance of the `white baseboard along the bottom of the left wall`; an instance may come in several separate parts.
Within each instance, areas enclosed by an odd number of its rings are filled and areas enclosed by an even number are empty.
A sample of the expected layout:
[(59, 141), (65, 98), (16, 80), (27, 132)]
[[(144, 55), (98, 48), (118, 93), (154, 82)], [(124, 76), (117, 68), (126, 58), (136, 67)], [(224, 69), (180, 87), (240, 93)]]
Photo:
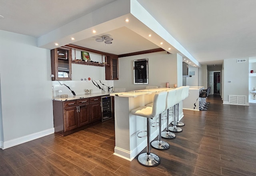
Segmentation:
[(36, 133), (33, 133), (33, 134), (22, 136), (20, 138), (4, 141), (1, 148), (2, 149), (10, 148), (10, 147), (28, 142), (30, 140), (41, 138), (41, 137), (44, 137), (44, 136), (47, 136), (47, 135), (53, 134), (53, 133), (54, 133), (54, 128), (50, 128), (50, 129), (47, 129), (47, 130), (43, 130), (43, 131), (40, 131), (40, 132), (36, 132)]

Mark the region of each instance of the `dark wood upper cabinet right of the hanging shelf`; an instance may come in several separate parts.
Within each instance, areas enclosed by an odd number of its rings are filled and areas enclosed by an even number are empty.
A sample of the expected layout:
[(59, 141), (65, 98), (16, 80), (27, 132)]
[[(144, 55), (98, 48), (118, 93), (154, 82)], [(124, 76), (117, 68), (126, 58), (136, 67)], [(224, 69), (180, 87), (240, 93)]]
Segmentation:
[(118, 80), (118, 57), (105, 56), (105, 67), (106, 80)]

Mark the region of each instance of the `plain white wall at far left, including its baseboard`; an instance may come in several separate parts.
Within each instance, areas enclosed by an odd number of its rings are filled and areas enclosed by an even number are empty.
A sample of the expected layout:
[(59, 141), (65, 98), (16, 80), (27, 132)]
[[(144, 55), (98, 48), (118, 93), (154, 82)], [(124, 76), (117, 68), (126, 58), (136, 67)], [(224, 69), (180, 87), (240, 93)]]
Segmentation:
[(4, 148), (54, 132), (50, 50), (36, 38), (0, 30)]

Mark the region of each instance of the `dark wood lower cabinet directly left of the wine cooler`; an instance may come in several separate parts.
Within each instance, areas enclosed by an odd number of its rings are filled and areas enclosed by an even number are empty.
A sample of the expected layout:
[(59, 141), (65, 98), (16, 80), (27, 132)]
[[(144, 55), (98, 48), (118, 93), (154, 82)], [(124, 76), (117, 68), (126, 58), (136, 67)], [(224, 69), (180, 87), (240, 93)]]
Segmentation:
[(100, 96), (90, 98), (90, 122), (101, 120)]

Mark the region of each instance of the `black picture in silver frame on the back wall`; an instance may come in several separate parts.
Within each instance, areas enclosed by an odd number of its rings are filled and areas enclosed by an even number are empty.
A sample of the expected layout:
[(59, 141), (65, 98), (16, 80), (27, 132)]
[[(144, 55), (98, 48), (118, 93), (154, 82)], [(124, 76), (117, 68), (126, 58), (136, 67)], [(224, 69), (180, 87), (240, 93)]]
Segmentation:
[(148, 84), (148, 58), (133, 61), (134, 84)]

